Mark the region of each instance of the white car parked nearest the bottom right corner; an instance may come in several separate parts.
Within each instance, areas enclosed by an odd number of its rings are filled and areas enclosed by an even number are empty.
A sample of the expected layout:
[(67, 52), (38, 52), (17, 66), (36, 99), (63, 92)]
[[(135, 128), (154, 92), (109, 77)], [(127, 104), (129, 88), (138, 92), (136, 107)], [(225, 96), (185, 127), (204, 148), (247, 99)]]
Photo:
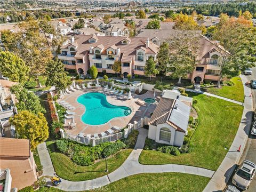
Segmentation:
[(232, 179), (232, 183), (242, 190), (248, 189), (254, 177), (255, 170), (256, 165), (254, 163), (248, 160), (244, 160), (236, 170), (236, 173)]

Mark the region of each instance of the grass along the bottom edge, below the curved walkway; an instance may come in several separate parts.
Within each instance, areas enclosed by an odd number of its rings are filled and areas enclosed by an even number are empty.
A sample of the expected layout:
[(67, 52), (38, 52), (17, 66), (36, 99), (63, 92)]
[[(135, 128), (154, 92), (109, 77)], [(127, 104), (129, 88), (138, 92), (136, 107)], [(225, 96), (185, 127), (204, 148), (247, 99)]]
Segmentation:
[[(142, 173), (92, 191), (203, 191), (210, 178), (185, 173)], [(62, 190), (50, 188), (49, 192)]]

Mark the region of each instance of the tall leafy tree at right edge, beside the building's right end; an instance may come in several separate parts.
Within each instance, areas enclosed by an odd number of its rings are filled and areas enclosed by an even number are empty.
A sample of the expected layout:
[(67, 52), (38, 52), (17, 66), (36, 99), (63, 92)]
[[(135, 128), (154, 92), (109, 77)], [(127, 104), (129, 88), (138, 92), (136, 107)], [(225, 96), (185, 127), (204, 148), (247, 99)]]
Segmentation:
[(219, 59), (220, 76), (237, 76), (239, 71), (254, 67), (256, 58), (256, 29), (239, 21), (239, 18), (221, 18), (213, 38), (220, 42), (223, 54)]

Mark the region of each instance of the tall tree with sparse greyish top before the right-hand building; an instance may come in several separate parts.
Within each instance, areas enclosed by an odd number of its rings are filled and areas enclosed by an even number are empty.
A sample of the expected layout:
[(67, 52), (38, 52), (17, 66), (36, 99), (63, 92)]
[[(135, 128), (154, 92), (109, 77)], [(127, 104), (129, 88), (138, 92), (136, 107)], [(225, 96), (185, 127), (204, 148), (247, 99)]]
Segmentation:
[(170, 72), (171, 76), (179, 78), (180, 84), (181, 78), (186, 78), (187, 74), (195, 69), (198, 38), (196, 34), (182, 31), (171, 37), (168, 42), (170, 54), (166, 73)]

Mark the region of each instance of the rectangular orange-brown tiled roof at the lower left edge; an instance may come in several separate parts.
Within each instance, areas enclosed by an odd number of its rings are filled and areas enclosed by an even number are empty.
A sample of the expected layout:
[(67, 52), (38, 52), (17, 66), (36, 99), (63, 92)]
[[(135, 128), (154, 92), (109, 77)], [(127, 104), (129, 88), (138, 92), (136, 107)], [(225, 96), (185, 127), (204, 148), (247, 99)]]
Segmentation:
[(30, 157), (29, 139), (0, 138), (1, 157)]

